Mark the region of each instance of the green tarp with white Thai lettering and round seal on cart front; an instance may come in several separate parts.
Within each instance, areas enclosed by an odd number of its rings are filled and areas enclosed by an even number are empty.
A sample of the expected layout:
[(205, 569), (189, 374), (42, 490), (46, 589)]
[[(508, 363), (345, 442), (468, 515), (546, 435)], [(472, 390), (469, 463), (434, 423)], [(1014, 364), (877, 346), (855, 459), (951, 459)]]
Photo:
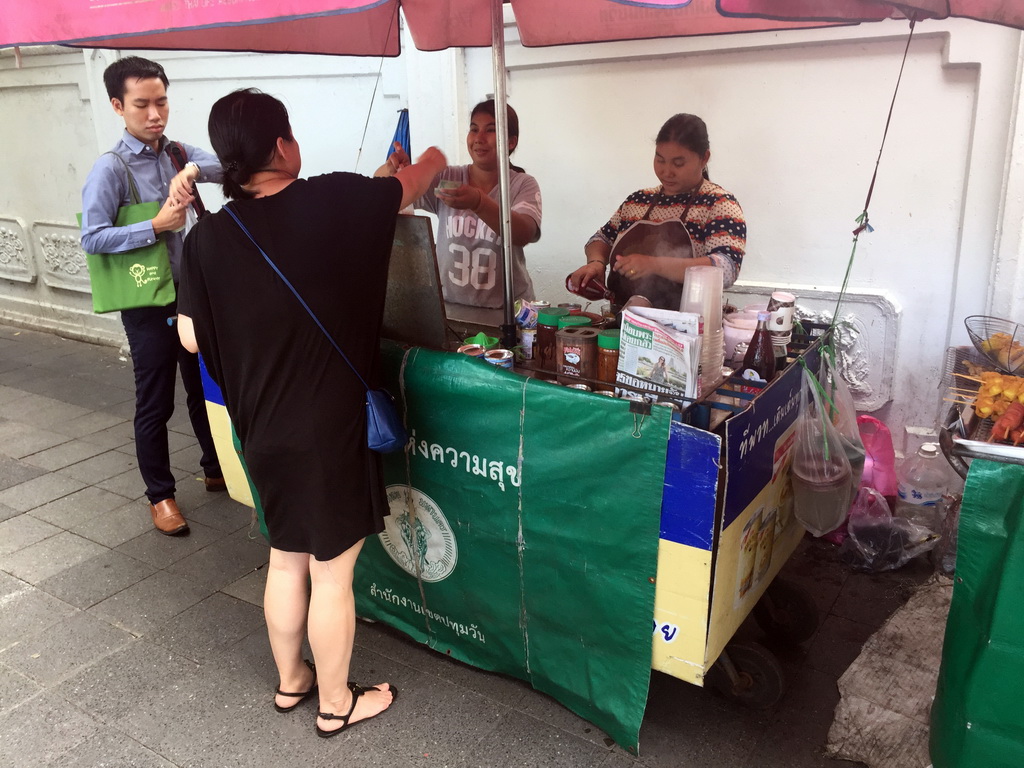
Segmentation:
[(386, 345), (413, 432), (356, 608), (551, 694), (636, 749), (650, 678), (670, 409)]

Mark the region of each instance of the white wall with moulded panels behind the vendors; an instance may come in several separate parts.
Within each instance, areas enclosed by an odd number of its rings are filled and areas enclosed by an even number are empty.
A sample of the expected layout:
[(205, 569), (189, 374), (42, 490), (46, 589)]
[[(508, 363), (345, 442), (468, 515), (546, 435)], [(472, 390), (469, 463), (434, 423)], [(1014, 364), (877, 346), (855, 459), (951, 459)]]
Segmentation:
[[(563, 280), (583, 262), (586, 240), (629, 193), (656, 181), (662, 122), (692, 112), (709, 125), (712, 177), (746, 213), (737, 289), (757, 296), (792, 286), (808, 306), (834, 306), (905, 24), (548, 49), (522, 48), (514, 27), (508, 32), (508, 94), (521, 124), (515, 160), (537, 176), (545, 202), (543, 238), (526, 250), (540, 296), (568, 298)], [(934, 427), (945, 349), (968, 343), (963, 318), (991, 311), (1024, 319), (1020, 49), (1016, 31), (925, 23), (903, 73), (870, 205), (876, 230), (860, 239), (849, 287), (856, 296), (844, 313), (858, 318), (866, 340), (861, 401), (897, 437), (909, 428), (909, 443)], [(0, 53), (0, 138), (14, 147), (0, 155), (0, 238), (15, 219), (30, 230), (39, 221), (73, 224), (92, 161), (120, 133), (99, 84), (115, 52), (28, 52), (23, 70)], [(210, 104), (256, 86), (288, 104), (307, 174), (372, 172), (407, 105), (414, 154), (436, 143), (465, 162), (468, 111), (494, 89), (485, 49), (422, 53), (407, 43), (401, 57), (384, 61), (153, 57), (172, 82), (170, 136), (208, 143)], [(220, 202), (213, 188), (204, 197)], [(113, 318), (89, 313), (87, 296), (49, 285), (61, 281), (35, 244), (27, 249), (35, 283), (4, 280), (3, 242), (0, 317), (117, 334)]]

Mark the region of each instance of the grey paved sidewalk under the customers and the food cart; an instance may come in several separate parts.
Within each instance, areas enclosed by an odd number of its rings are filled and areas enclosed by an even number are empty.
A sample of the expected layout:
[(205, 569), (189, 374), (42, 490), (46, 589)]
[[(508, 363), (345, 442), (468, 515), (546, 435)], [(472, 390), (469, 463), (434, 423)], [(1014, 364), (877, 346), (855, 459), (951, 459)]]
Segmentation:
[[(854, 573), (807, 540), (785, 575), (821, 614), (768, 644), (787, 692), (767, 711), (653, 673), (640, 758), (526, 684), (359, 623), (352, 678), (402, 695), (337, 738), (311, 702), (284, 716), (261, 609), (267, 547), (251, 511), (207, 494), (187, 415), (171, 423), (187, 538), (156, 532), (118, 350), (0, 325), (0, 766), (838, 768), (822, 751), (837, 678), (924, 563)], [(936, 628), (941, 632), (942, 628)]]

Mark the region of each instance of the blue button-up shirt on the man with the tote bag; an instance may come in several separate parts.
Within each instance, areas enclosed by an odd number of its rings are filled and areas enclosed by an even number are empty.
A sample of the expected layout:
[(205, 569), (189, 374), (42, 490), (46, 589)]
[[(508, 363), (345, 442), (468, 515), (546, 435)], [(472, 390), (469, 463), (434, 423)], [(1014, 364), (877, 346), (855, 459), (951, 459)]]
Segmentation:
[[(160, 139), (160, 152), (155, 153), (127, 130), (112, 152), (124, 159), (131, 169), (138, 188), (139, 203), (158, 202), (163, 205), (170, 194), (171, 179), (177, 171), (166, 152), (169, 141)], [(200, 169), (200, 181), (220, 181), (220, 162), (215, 155), (191, 144), (182, 143), (188, 162)], [(131, 204), (131, 190), (124, 166), (117, 158), (99, 156), (82, 187), (82, 248), (86, 253), (122, 253), (134, 248), (153, 245), (157, 234), (153, 221), (139, 221), (128, 226), (115, 226), (118, 209)], [(171, 273), (178, 282), (178, 264), (181, 261), (181, 243), (184, 232), (163, 232), (171, 260)]]

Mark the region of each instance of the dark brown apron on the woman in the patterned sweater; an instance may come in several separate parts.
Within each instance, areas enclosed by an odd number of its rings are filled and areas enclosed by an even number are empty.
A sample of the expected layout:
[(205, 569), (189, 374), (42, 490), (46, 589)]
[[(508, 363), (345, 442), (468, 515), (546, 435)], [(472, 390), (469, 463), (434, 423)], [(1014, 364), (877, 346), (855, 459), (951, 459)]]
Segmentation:
[[(693, 240), (686, 231), (686, 214), (690, 212), (692, 202), (686, 204), (679, 218), (665, 221), (650, 221), (647, 217), (654, 210), (651, 203), (643, 218), (634, 221), (617, 238), (611, 247), (609, 264), (615, 263), (620, 255), (629, 256), (642, 253), (647, 256), (671, 256), (673, 258), (693, 258)], [(631, 296), (640, 295), (650, 300), (652, 306), (658, 309), (679, 309), (683, 296), (683, 284), (650, 274), (631, 280), (614, 269), (608, 274), (608, 290), (614, 294), (613, 304), (623, 305)]]

